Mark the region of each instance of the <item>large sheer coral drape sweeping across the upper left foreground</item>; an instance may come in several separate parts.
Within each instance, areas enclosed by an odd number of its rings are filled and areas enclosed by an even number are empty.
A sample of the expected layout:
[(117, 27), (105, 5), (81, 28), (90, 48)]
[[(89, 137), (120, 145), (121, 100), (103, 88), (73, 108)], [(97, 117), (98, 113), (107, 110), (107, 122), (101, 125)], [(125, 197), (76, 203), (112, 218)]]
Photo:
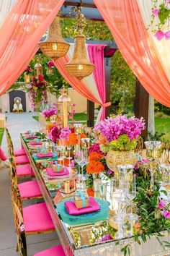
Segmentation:
[(17, 0), (0, 29), (0, 95), (24, 72), (64, 0)]

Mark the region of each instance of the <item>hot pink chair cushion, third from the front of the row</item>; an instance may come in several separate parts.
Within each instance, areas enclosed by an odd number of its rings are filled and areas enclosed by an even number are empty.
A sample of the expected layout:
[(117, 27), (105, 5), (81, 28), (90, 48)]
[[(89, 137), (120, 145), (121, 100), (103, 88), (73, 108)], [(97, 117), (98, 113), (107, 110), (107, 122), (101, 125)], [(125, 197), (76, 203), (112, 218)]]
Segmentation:
[(37, 184), (37, 181), (23, 182), (18, 184), (20, 196), (22, 199), (29, 197), (40, 197), (42, 193), (40, 187)]

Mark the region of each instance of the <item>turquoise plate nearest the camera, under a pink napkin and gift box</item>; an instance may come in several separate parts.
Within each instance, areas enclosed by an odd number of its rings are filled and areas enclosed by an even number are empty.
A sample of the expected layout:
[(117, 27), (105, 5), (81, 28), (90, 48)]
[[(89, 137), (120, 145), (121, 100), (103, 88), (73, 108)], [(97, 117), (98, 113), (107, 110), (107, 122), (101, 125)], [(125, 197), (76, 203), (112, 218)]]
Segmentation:
[(100, 206), (100, 210), (94, 213), (85, 213), (79, 216), (73, 216), (68, 214), (64, 202), (73, 200), (73, 198), (65, 199), (59, 202), (56, 210), (58, 214), (60, 214), (62, 220), (68, 223), (68, 225), (78, 225), (82, 223), (89, 223), (91, 221), (92, 223), (95, 223), (97, 221), (105, 221), (109, 217), (109, 204), (107, 201), (100, 200), (97, 197), (94, 197), (94, 199)]

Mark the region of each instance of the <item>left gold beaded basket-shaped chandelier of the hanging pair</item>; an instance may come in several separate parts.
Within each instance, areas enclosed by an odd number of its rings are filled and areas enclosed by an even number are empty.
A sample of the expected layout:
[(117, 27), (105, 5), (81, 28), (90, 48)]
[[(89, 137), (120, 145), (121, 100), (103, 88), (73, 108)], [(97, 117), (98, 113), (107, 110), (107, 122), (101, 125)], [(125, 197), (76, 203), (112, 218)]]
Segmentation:
[(70, 45), (63, 39), (61, 33), (60, 17), (55, 17), (49, 27), (46, 40), (39, 45), (42, 54), (45, 54), (45, 56), (50, 57), (54, 61), (66, 55)]

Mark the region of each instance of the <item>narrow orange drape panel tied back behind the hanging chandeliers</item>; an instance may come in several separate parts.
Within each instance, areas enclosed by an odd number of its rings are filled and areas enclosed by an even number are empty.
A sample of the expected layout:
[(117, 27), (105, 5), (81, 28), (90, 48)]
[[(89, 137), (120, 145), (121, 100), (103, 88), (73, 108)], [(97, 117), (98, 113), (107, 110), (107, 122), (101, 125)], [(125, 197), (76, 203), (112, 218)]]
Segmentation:
[(63, 78), (68, 82), (69, 85), (71, 85), (74, 89), (76, 89), (81, 95), (83, 95), (89, 101), (99, 103), (97, 98), (95, 98), (94, 95), (88, 90), (88, 88), (86, 88), (86, 85), (83, 82), (83, 80), (79, 81), (75, 77), (71, 77), (71, 75), (68, 74), (65, 67), (68, 61), (69, 61), (69, 58), (67, 55), (55, 61), (55, 66), (58, 69), (58, 71), (61, 73)]

